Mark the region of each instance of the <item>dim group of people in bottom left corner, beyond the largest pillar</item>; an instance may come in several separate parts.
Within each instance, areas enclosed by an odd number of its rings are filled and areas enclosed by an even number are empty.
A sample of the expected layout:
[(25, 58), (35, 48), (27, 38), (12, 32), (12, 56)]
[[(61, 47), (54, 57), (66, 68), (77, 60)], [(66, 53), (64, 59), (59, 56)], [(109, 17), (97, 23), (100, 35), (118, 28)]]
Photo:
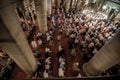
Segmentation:
[(0, 49), (0, 79), (9, 79), (15, 66), (15, 62), (7, 55), (4, 50)]

